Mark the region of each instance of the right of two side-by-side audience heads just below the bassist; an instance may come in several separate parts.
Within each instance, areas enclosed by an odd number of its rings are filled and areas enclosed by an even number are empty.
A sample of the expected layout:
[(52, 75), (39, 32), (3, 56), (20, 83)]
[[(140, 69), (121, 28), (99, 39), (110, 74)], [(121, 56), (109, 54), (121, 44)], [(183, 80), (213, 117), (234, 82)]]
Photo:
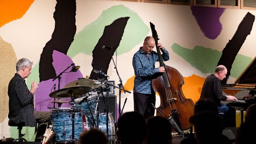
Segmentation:
[(147, 144), (171, 144), (171, 124), (161, 116), (153, 116), (147, 120)]

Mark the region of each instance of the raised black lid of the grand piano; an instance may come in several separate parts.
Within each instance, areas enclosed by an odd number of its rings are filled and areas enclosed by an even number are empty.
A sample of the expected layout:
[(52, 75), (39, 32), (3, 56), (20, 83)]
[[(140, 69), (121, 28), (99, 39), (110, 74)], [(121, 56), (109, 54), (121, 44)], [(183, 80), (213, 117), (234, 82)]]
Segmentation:
[(236, 79), (234, 85), (251, 85), (252, 87), (256, 85), (256, 61), (255, 58), (250, 62), (250, 64), (245, 68), (242, 74)]

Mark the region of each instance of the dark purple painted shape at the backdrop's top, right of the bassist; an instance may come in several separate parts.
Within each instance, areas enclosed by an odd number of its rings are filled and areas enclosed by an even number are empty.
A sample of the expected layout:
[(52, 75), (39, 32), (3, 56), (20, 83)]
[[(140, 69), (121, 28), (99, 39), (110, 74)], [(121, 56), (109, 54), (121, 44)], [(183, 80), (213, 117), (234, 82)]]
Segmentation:
[(225, 8), (192, 6), (191, 11), (204, 36), (208, 39), (216, 39), (222, 30), (219, 18)]

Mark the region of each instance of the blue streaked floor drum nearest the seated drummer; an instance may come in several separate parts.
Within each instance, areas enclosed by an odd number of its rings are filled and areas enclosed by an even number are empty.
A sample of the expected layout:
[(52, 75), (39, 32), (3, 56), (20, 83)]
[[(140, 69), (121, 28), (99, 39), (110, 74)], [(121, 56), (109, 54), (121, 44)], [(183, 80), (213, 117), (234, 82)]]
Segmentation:
[(52, 129), (55, 131), (55, 141), (72, 140), (72, 113), (74, 112), (74, 139), (78, 140), (83, 132), (83, 112), (82, 109), (71, 109), (70, 107), (60, 107), (52, 109)]

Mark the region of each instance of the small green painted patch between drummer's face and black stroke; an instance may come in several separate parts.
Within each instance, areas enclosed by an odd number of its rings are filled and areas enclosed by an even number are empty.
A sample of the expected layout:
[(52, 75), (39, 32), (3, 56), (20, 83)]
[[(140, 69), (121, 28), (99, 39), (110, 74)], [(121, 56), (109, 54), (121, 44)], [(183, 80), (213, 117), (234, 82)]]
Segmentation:
[(39, 84), (39, 82), (40, 82), (40, 79), (39, 79), (39, 62), (37, 62), (33, 66), (32, 70), (31, 70), (31, 74), (27, 78), (26, 82), (27, 82), (28, 89), (31, 88), (32, 81), (36, 81), (37, 84)]

